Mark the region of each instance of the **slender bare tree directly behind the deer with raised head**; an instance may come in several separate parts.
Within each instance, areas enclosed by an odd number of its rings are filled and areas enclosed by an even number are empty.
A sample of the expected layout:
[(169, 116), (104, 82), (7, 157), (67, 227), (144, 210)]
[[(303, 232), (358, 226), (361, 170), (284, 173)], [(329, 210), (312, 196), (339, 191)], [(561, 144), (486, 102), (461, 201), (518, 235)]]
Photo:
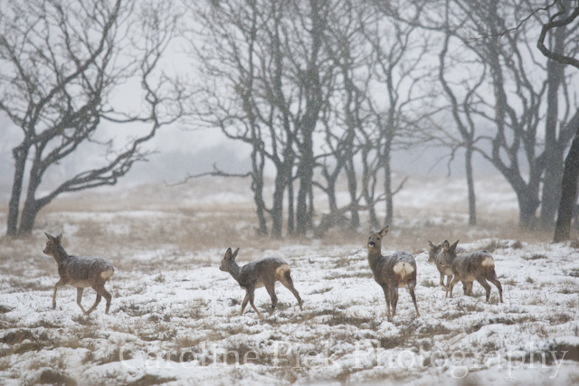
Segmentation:
[[(388, 224), (394, 219), (394, 194), (402, 188), (402, 184), (397, 189), (392, 186), (391, 157), (395, 141), (408, 136), (416, 123), (428, 115), (420, 104), (426, 96), (425, 88), (421, 89), (420, 85), (428, 73), (424, 58), (432, 43), (428, 34), (423, 34), (415, 24), (401, 20), (396, 11), (404, 8), (400, 2), (370, 1), (369, 4), (376, 16), (364, 25), (365, 39), (372, 50), (367, 98), (371, 127), (379, 137), (375, 144), (377, 169), (368, 166), (367, 173), (372, 175), (377, 170), (384, 173), (384, 223)], [(408, 10), (403, 14), (405, 18), (413, 19), (420, 11)], [(372, 164), (367, 161), (363, 163)], [(366, 175), (364, 180), (365, 189), (368, 189), (375, 176)], [(374, 193), (368, 195), (371, 197)]]

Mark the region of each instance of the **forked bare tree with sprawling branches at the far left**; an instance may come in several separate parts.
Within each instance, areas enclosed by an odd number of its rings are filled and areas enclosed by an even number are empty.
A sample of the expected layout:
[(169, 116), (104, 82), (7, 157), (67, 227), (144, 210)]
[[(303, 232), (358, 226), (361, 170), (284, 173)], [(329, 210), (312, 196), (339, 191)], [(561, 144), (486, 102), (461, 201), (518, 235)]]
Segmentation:
[[(135, 162), (146, 159), (143, 145), (159, 127), (184, 113), (183, 89), (157, 71), (174, 37), (176, 14), (170, 3), (138, 5), (122, 0), (11, 0), (2, 5), (0, 110), (24, 135), (13, 149), (8, 235), (30, 233), (37, 213), (61, 193), (116, 184)], [(113, 103), (115, 92), (129, 80), (141, 84), (143, 113)], [(118, 146), (106, 137), (104, 122), (145, 128)], [(37, 197), (44, 174), (82, 146), (104, 148), (100, 165)]]

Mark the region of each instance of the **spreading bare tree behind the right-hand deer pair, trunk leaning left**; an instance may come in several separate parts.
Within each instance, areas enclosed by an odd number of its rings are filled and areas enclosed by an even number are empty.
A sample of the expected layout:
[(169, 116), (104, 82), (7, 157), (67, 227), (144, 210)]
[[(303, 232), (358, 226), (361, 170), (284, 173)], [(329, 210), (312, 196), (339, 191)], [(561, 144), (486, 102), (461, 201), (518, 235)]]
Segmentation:
[[(558, 87), (549, 87), (549, 79), (560, 77), (560, 73), (549, 74), (557, 69), (538, 61), (529, 45), (533, 40), (534, 24), (524, 23), (527, 14), (526, 2), (455, 0), (451, 2), (450, 17), (454, 25), (460, 25), (454, 35), (488, 69), (489, 76), (481, 89), (492, 91), (494, 97), (492, 101), (486, 100), (486, 107), (473, 109), (479, 116), (475, 123), (490, 124), (494, 130), (494, 134), (482, 136), (488, 141), (489, 150), (485, 146), (475, 148), (497, 167), (517, 193), (519, 224), (529, 230), (537, 224), (536, 211), (541, 204), (539, 191), (546, 178), (548, 159), (556, 157), (557, 153), (563, 154), (573, 136), (574, 117), (568, 115), (571, 101), (565, 98), (565, 88), (561, 91)], [(509, 25), (517, 25), (517, 28), (508, 29)], [(552, 91), (551, 102), (547, 97), (548, 89)], [(561, 95), (567, 106), (564, 114), (556, 110), (559, 102), (555, 97)], [(480, 100), (485, 102), (485, 99)], [(544, 108), (547, 119), (544, 119)], [(549, 131), (548, 127), (555, 117), (560, 122), (558, 137), (553, 137), (554, 131)], [(546, 137), (547, 140), (551, 137), (552, 146), (542, 143), (540, 127), (545, 123)], [(544, 189), (544, 193), (545, 190), (548, 191)], [(544, 197), (546, 207), (551, 195)]]

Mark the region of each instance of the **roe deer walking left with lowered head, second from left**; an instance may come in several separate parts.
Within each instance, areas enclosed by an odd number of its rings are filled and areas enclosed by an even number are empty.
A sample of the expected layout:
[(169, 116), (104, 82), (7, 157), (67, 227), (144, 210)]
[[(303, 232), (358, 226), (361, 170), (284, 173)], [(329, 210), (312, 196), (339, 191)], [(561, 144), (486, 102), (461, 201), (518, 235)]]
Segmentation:
[(265, 287), (265, 289), (268, 290), (271, 297), (271, 311), (273, 311), (278, 304), (278, 297), (275, 295), (276, 281), (279, 281), (291, 291), (293, 296), (298, 299), (299, 309), (303, 310), (301, 297), (299, 297), (296, 288), (293, 287), (293, 280), (289, 274), (288, 263), (279, 258), (263, 258), (254, 260), (240, 267), (235, 261), (238, 252), (239, 248), (235, 249), (233, 253), (232, 249), (228, 248), (219, 269), (224, 272), (229, 272), (233, 278), (237, 280), (239, 285), (245, 289), (245, 298), (243, 299), (242, 313), (240, 315), (243, 315), (243, 310), (249, 301), (257, 315), (263, 317), (261, 312), (253, 305), (255, 288), (259, 287)]

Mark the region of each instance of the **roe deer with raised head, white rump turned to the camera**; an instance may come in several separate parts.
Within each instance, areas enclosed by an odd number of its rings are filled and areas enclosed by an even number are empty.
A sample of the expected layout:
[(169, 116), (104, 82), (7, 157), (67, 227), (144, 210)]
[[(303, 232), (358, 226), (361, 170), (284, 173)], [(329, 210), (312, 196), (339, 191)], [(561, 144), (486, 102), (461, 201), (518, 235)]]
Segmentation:
[(409, 252), (395, 252), (392, 256), (382, 256), (382, 238), (388, 233), (389, 226), (382, 231), (370, 231), (368, 239), (368, 264), (374, 273), (376, 283), (384, 290), (386, 298), (386, 315), (396, 315), (398, 304), (398, 287), (408, 287), (410, 296), (413, 298), (416, 316), (420, 316), (414, 287), (416, 287), (416, 262)]

